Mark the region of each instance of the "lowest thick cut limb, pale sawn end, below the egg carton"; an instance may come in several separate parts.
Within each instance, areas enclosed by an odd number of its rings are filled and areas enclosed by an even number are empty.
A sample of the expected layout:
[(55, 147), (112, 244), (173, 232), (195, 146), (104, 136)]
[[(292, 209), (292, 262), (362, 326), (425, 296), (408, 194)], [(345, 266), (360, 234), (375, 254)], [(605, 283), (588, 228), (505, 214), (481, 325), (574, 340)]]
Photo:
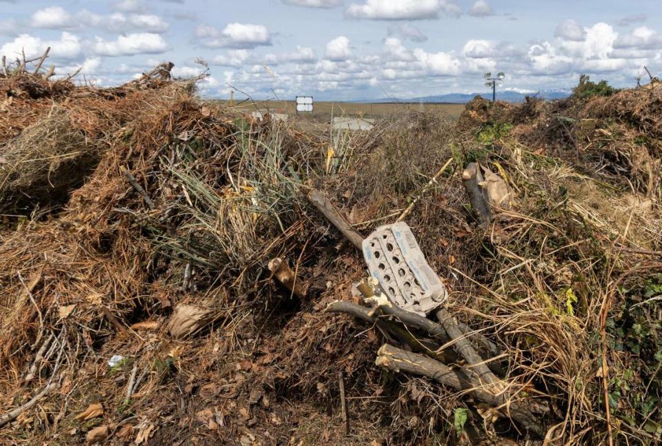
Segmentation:
[(545, 426), (535, 415), (536, 413), (545, 413), (547, 409), (545, 405), (530, 399), (504, 402), (500, 396), (481, 387), (479, 383), (465, 376), (461, 371), (451, 369), (427, 356), (405, 352), (403, 349), (384, 344), (377, 352), (375, 364), (393, 372), (408, 372), (419, 376), (428, 376), (437, 383), (451, 387), (458, 392), (466, 391), (484, 403), (499, 409), (501, 414), (519, 423), (528, 431), (540, 436), (545, 434)]

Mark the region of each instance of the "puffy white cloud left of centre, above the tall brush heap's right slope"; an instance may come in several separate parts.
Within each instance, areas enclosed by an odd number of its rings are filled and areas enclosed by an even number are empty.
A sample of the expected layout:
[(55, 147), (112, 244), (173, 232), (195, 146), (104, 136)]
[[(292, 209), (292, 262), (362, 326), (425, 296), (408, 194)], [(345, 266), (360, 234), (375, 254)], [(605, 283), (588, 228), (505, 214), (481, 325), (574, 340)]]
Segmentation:
[(223, 30), (208, 25), (199, 25), (195, 36), (203, 39), (210, 48), (256, 48), (270, 46), (271, 34), (266, 26), (252, 23), (228, 23)]

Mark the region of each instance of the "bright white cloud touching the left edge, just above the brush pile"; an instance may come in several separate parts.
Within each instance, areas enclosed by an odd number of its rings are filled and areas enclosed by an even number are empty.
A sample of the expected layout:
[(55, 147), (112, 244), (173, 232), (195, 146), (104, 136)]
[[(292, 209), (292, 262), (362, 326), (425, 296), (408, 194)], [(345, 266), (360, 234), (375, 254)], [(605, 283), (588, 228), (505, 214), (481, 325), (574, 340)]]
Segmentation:
[(50, 57), (57, 60), (77, 59), (82, 52), (81, 39), (70, 32), (63, 32), (60, 39), (54, 41), (43, 41), (30, 34), (21, 34), (13, 41), (2, 45), (0, 55), (13, 60), (22, 57), (21, 52), (25, 51), (26, 59), (34, 59), (41, 56), (48, 47), (51, 48)]

